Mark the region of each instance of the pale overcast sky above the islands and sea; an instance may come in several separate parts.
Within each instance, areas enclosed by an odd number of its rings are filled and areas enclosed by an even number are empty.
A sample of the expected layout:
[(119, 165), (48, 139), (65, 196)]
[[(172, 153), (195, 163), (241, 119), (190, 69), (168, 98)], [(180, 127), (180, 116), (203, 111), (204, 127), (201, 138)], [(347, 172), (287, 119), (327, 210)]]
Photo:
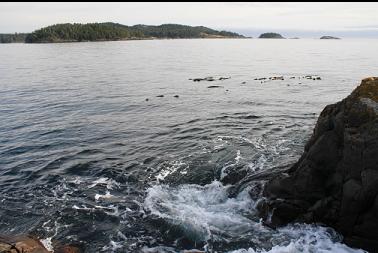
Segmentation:
[(247, 36), (378, 37), (378, 3), (0, 3), (0, 33), (32, 32), (57, 23), (178, 23), (225, 29)]

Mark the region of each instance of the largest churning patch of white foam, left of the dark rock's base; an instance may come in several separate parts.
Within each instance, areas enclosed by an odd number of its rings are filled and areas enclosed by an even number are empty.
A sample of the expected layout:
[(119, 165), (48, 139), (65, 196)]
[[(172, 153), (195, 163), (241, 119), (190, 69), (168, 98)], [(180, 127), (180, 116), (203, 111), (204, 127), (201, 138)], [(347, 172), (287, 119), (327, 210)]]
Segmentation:
[(243, 192), (228, 198), (227, 188), (220, 182), (206, 186), (182, 185), (177, 188), (156, 185), (149, 188), (144, 206), (153, 215), (181, 226), (196, 240), (214, 239), (218, 233), (244, 233), (254, 223), (242, 215), (253, 208), (253, 201)]

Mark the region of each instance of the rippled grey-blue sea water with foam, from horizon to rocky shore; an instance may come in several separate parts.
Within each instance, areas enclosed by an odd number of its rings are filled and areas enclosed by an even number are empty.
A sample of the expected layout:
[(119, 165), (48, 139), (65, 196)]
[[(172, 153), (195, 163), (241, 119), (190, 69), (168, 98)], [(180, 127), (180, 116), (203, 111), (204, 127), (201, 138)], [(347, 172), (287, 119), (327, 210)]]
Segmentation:
[[(329, 228), (264, 227), (264, 176), (236, 176), (295, 162), (377, 56), (376, 40), (0, 45), (0, 233), (85, 252), (359, 252)], [(206, 76), (231, 78), (189, 80)]]

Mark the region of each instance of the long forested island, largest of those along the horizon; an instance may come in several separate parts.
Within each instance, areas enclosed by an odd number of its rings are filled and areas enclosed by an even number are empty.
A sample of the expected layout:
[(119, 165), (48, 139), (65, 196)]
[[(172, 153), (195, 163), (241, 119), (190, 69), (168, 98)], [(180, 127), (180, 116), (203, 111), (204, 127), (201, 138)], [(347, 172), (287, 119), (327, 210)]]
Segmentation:
[(243, 35), (217, 31), (204, 26), (178, 24), (134, 25), (118, 23), (56, 24), (30, 34), (0, 34), (1, 43), (56, 43), (115, 41), (133, 39), (245, 38)]

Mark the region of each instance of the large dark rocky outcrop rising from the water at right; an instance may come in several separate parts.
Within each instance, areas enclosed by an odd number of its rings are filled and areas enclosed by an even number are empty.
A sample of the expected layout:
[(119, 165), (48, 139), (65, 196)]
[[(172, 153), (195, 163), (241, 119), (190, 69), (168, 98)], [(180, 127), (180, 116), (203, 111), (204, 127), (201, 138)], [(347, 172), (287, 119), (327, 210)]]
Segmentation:
[(299, 161), (265, 185), (258, 209), (266, 224), (320, 222), (378, 252), (377, 115), (378, 77), (326, 106)]

